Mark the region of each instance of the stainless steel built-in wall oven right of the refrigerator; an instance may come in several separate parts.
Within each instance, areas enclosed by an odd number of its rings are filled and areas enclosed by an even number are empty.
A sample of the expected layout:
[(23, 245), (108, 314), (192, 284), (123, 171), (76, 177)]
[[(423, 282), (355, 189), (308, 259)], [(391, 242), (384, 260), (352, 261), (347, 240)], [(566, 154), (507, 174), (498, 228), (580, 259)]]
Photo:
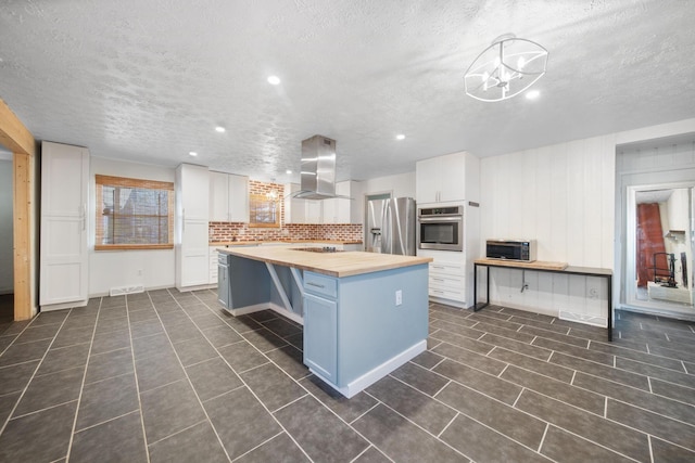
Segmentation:
[(464, 250), (464, 206), (418, 209), (418, 248)]

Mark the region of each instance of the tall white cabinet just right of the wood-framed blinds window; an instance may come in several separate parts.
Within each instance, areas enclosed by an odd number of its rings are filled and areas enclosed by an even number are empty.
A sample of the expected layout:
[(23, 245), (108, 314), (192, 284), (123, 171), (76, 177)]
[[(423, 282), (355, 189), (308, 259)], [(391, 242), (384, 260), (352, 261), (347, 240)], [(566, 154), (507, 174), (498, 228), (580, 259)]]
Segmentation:
[(181, 164), (176, 168), (176, 287), (190, 291), (210, 282), (207, 167)]

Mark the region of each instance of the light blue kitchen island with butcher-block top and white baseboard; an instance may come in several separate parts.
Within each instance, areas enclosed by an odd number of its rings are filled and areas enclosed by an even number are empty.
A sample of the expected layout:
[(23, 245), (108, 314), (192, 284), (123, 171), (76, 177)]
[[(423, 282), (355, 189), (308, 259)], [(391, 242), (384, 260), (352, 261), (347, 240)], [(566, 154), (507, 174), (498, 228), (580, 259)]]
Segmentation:
[[(273, 309), (304, 325), (304, 364), (345, 397), (427, 348), (428, 257), (219, 248), (232, 314)], [(226, 268), (223, 268), (226, 267)]]

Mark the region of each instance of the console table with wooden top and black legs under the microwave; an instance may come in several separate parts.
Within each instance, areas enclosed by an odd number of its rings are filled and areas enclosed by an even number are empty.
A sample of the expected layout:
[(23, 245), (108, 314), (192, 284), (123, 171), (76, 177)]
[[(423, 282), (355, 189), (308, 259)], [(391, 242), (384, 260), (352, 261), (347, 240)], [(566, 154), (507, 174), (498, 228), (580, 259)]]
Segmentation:
[[(486, 270), (486, 300), (480, 304), (478, 304), (478, 267), (484, 267)], [(541, 260), (533, 262), (520, 262), (501, 259), (476, 259), (473, 260), (473, 311), (476, 312), (490, 305), (490, 267), (605, 278), (608, 283), (608, 340), (612, 340), (612, 271), (610, 269), (572, 267), (565, 262), (544, 262)]]

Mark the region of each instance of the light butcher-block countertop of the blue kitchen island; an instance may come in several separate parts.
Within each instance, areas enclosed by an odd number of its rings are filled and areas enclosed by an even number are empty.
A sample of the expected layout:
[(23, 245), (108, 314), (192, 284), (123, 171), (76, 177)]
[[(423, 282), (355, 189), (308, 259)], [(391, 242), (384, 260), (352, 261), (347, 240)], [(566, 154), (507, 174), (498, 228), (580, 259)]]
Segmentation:
[(222, 247), (219, 253), (342, 278), (431, 262), (431, 257), (343, 252), (312, 253), (287, 247)]

